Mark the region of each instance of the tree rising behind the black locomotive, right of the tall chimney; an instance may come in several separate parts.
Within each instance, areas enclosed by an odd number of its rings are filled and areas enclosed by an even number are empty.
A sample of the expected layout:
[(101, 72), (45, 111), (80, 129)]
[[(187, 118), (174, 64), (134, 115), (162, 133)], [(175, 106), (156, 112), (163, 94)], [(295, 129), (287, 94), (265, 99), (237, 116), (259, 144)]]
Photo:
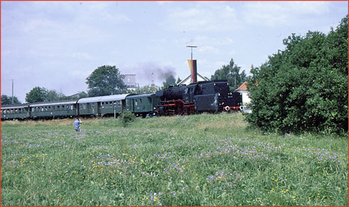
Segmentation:
[(245, 70), (239, 73), (240, 69), (241, 67), (237, 66), (233, 59), (230, 59), (228, 66), (223, 65), (222, 68), (214, 72), (214, 75), (211, 75), (211, 80), (226, 79), (228, 80), (230, 91), (235, 91), (246, 81)]

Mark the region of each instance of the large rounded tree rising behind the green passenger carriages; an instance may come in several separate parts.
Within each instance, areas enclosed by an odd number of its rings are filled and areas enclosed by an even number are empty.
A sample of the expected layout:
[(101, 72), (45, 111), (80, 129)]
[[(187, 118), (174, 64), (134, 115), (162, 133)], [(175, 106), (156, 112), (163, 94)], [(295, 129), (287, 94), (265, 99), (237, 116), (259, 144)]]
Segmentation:
[(115, 66), (101, 66), (87, 77), (89, 96), (114, 95), (126, 92), (124, 75)]

